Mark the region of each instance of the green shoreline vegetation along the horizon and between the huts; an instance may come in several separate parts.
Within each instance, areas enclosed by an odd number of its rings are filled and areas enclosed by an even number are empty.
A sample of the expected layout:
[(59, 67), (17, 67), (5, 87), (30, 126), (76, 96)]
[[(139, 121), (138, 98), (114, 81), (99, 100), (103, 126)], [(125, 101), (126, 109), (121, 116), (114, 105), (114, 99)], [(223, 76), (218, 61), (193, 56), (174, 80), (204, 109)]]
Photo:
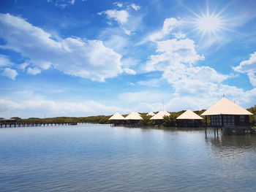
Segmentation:
[[(250, 126), (256, 126), (256, 105), (254, 107), (250, 107), (247, 109), (249, 112), (252, 112), (253, 115), (249, 115), (249, 124)], [(194, 111), (197, 115), (201, 115), (206, 110)], [(160, 126), (163, 127), (173, 127), (176, 125), (176, 118), (181, 115), (185, 110), (179, 112), (169, 112), (170, 116), (164, 117), (162, 120), (162, 124)], [(140, 126), (154, 126), (154, 120), (149, 120), (151, 116), (147, 116), (147, 113), (140, 113), (143, 120), (140, 120)], [(128, 115), (128, 114), (127, 114)], [(126, 117), (127, 115), (123, 115)], [(97, 115), (97, 116), (89, 116), (89, 117), (57, 117), (57, 118), (27, 118), (22, 119), (18, 117), (12, 117), (12, 119), (16, 120), (16, 123), (38, 123), (38, 124), (47, 124), (47, 123), (99, 123), (99, 124), (110, 124), (110, 120), (108, 120), (112, 115)], [(0, 118), (0, 120), (3, 118)], [(210, 120), (207, 120), (209, 123)], [(203, 118), (203, 125), (206, 125), (206, 120)]]

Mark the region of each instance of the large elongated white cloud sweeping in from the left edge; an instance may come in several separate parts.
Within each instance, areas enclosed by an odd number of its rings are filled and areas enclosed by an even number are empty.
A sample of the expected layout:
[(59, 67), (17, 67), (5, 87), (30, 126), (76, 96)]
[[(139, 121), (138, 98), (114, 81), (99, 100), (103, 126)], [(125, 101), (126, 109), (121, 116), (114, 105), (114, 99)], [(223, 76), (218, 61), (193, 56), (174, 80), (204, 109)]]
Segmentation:
[(121, 55), (101, 41), (75, 37), (53, 40), (41, 28), (10, 14), (0, 14), (0, 37), (7, 42), (0, 48), (21, 53), (38, 69), (53, 67), (64, 74), (101, 82), (122, 72)]

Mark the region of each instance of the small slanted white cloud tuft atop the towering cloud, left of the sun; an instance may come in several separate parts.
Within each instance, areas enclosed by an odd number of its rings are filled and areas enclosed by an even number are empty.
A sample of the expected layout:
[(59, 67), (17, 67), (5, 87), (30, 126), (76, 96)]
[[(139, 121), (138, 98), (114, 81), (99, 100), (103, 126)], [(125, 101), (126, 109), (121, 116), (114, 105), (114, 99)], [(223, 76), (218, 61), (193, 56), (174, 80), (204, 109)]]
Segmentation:
[(176, 18), (167, 18), (164, 21), (164, 25), (162, 26), (162, 30), (158, 31), (157, 33), (151, 34), (149, 39), (152, 42), (155, 42), (159, 39), (164, 38), (168, 34), (170, 34), (170, 31), (173, 31), (174, 28), (180, 26), (182, 23), (181, 20), (176, 20)]

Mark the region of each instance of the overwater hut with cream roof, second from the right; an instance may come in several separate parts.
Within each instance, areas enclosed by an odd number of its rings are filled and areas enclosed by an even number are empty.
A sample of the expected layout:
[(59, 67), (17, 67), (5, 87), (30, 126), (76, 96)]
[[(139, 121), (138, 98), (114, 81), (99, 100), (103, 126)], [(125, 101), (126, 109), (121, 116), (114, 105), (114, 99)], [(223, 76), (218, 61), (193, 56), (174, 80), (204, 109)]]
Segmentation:
[(187, 110), (176, 118), (178, 127), (199, 127), (202, 125), (202, 119), (191, 110)]

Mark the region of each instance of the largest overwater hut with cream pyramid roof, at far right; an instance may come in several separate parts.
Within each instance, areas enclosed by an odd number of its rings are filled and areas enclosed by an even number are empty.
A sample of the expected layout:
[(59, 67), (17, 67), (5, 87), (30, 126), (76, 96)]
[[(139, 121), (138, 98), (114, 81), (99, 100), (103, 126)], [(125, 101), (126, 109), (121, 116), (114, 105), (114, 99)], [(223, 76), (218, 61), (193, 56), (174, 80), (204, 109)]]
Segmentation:
[(249, 115), (252, 115), (252, 113), (240, 107), (238, 104), (226, 98), (222, 98), (203, 112), (202, 115), (206, 117), (210, 116), (211, 126), (235, 127), (249, 126)]

